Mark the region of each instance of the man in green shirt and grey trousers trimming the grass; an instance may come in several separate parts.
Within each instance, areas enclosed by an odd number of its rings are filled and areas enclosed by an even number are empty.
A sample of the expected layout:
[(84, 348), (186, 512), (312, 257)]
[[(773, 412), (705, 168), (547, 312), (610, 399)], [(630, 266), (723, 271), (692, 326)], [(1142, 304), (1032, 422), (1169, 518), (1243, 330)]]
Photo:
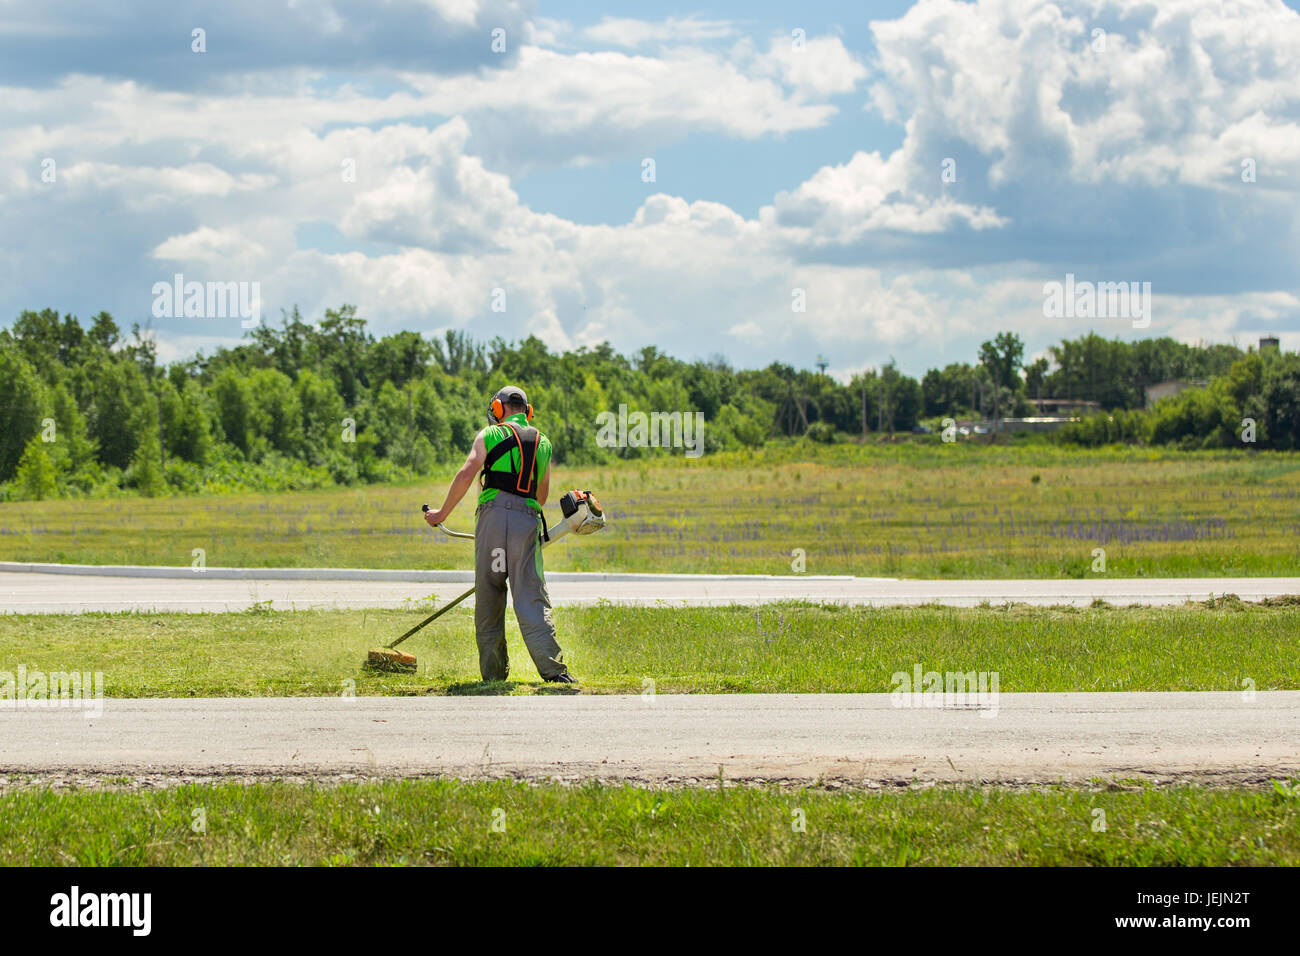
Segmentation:
[(542, 576), (542, 505), (551, 486), (551, 442), (529, 425), (533, 406), (524, 390), (507, 385), (488, 406), (493, 423), (474, 438), (469, 457), (451, 480), (447, 499), (426, 511), (442, 524), (478, 475), (474, 524), (474, 636), (484, 680), (510, 675), (506, 654), (506, 581), (515, 597), (515, 618), (528, 653), (543, 680), (571, 684), (564, 654), (555, 641), (551, 598)]

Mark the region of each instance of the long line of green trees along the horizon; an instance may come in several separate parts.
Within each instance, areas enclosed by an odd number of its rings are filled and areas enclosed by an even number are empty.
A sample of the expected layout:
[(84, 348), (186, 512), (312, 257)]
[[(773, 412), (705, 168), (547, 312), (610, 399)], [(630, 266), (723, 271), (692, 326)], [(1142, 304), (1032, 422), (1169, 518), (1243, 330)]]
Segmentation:
[[(343, 306), (316, 323), (295, 308), (235, 347), (165, 365), (147, 334), (136, 326), (124, 337), (107, 312), (88, 328), (53, 310), (23, 312), (0, 330), (0, 493), (160, 494), (413, 477), (459, 460), (484, 424), (485, 397), (503, 381), (528, 389), (558, 462), (651, 454), (597, 446), (595, 415), (623, 403), (702, 411), (705, 450), (716, 451), (910, 431), (926, 418), (1027, 414), (1040, 395), (1091, 398), (1123, 412), (1141, 407), (1143, 385), (1175, 377), (1225, 384), (1180, 397), (1162, 410), (1162, 424), (1143, 419), (1118, 440), (1221, 441), (1239, 411), (1253, 411), (1265, 444), (1300, 446), (1290, 411), (1300, 394), (1295, 355), (1265, 360), (1232, 346), (1089, 334), (1052, 356), (1026, 365), (1020, 339), (1001, 333), (975, 363), (932, 369), (920, 381), (890, 363), (838, 382), (783, 363), (688, 363), (655, 347), (620, 355), (602, 343), (555, 354), (536, 337), (376, 338)], [(1112, 414), (1108, 428), (1113, 421)], [(1098, 434), (1115, 440), (1092, 424), (1070, 440)]]

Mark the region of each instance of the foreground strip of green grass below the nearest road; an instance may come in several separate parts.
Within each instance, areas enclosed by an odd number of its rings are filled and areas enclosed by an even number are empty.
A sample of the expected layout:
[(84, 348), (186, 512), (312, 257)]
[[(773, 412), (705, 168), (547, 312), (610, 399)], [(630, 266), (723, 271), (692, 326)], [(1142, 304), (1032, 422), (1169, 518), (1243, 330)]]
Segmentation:
[[(1104, 831), (1093, 830), (1096, 810)], [(205, 830), (196, 832), (200, 819)], [(20, 788), (0, 795), (0, 864), (1294, 866), (1300, 787), (846, 793), (398, 780)]]

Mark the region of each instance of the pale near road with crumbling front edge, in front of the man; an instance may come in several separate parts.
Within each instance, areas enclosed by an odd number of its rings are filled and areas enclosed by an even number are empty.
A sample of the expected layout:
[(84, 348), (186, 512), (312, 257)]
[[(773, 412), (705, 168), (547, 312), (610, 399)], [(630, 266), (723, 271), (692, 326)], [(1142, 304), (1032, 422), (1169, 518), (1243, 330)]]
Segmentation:
[(456, 775), (876, 786), (1300, 774), (1300, 691), (107, 700), (0, 710), (0, 774)]

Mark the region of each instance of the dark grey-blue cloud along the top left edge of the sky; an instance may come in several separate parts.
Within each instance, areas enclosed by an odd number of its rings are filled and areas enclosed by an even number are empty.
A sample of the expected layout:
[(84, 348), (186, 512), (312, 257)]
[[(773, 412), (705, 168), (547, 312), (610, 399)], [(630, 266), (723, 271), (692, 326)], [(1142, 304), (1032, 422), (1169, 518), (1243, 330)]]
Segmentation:
[[(6, 0), (0, 83), (94, 74), (202, 88), (291, 68), (456, 73), (506, 66), (526, 25), (516, 0), (138, 0), (130, 10)], [(491, 49), (497, 29), (506, 31), (504, 53)], [(203, 52), (195, 30), (203, 30)]]

